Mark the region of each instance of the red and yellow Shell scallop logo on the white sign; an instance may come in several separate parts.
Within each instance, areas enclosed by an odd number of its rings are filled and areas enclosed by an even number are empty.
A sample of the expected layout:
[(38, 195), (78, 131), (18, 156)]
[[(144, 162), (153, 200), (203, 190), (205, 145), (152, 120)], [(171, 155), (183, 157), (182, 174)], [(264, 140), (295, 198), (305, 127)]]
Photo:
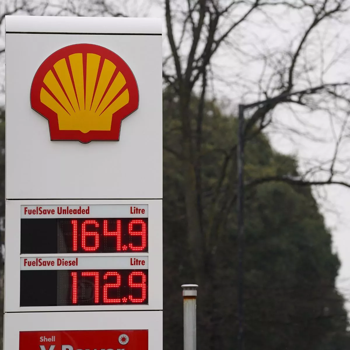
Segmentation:
[(121, 121), (138, 109), (129, 66), (93, 44), (57, 50), (41, 64), (30, 90), (31, 108), (49, 121), (51, 140), (119, 140)]

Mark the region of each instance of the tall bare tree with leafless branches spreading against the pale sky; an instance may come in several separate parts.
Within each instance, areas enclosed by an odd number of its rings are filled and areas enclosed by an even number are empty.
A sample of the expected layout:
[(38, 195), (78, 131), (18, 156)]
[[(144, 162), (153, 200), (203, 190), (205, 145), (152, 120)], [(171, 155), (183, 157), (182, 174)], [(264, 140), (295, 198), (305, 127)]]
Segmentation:
[[(202, 222), (203, 191), (201, 188), (201, 144), (203, 127), (203, 101), (208, 91), (208, 74), (211, 62), (221, 46), (230, 39), (240, 26), (257, 12), (265, 13), (271, 7), (283, 6), (287, 9), (307, 11), (309, 24), (303, 33), (289, 46), (289, 51), (276, 52), (274, 55), (260, 55), (264, 60), (255, 98), (276, 97), (273, 103), (258, 107), (246, 120), (245, 134), (247, 140), (257, 132), (265, 130), (272, 123), (271, 113), (280, 104), (298, 104), (311, 111), (316, 109), (335, 113), (332, 121), (338, 126), (335, 132), (335, 149), (331, 159), (324, 164), (313, 164), (300, 177), (269, 176), (250, 181), (248, 186), (255, 186), (266, 181), (285, 181), (299, 185), (342, 184), (350, 186), (337, 175), (346, 168), (339, 169), (339, 145), (348, 130), (349, 84), (346, 81), (328, 83), (323, 80), (321, 71), (317, 79), (308, 79), (312, 68), (307, 68), (304, 54), (310, 45), (310, 37), (323, 22), (340, 19), (348, 13), (348, 1), (165, 1), (167, 36), (170, 55), (165, 60), (164, 78), (177, 92), (181, 114), (181, 149), (174, 150), (181, 155), (185, 181), (184, 195), (188, 222), (188, 241), (193, 252), (193, 264), (198, 272), (198, 282), (203, 283), (205, 276), (205, 259), (210, 252), (208, 244), (216, 235), (222, 215), (235, 202), (228, 191), (225, 179), (235, 173), (236, 141), (226, 150), (222, 162), (221, 175), (213, 188), (211, 212), (216, 215), (211, 220), (211, 227), (204, 232)], [(265, 11), (266, 10), (266, 11)], [(246, 56), (248, 57), (248, 56)], [(267, 69), (268, 67), (268, 69)], [(316, 84), (315, 84), (316, 82)], [(295, 89), (303, 87), (306, 92), (295, 97), (286, 96)], [(309, 89), (309, 90), (308, 90)], [(258, 91), (260, 90), (260, 91)], [(190, 113), (191, 98), (199, 93), (202, 103), (198, 104), (196, 115)], [(333, 103), (341, 102), (345, 115), (339, 116), (340, 109), (334, 109)], [(336, 111), (336, 112), (334, 112)], [(196, 125), (193, 127), (193, 125)], [(300, 131), (298, 131), (300, 133)], [(167, 149), (169, 147), (167, 146)], [(179, 152), (180, 151), (180, 152)], [(229, 173), (229, 171), (231, 173)], [(320, 176), (321, 173), (323, 176)], [(220, 195), (226, 193), (226, 197)], [(204, 237), (206, 237), (204, 239)], [(201, 242), (202, 244), (198, 244)], [(204, 254), (203, 254), (204, 249)], [(210, 254), (209, 254), (210, 255)], [(205, 283), (205, 282), (204, 282)]]

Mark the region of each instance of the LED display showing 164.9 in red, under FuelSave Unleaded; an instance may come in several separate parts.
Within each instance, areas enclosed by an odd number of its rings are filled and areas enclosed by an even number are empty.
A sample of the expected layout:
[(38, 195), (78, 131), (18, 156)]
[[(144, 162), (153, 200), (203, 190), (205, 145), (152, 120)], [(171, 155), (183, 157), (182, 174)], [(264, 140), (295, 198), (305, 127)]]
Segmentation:
[(21, 219), (21, 254), (148, 251), (148, 218)]

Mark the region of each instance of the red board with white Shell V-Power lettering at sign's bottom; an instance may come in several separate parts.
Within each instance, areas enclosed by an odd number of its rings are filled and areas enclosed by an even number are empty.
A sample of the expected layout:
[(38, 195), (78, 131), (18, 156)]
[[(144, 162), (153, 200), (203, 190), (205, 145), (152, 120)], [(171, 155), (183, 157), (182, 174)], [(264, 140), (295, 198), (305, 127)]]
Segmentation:
[(19, 350), (148, 350), (148, 330), (20, 332)]

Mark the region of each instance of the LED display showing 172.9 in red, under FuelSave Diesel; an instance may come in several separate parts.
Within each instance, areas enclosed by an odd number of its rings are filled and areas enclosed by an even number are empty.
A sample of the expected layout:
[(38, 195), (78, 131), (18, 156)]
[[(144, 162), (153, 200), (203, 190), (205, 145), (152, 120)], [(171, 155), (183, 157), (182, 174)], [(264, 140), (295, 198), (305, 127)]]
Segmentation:
[(20, 306), (148, 304), (148, 270), (22, 270)]

